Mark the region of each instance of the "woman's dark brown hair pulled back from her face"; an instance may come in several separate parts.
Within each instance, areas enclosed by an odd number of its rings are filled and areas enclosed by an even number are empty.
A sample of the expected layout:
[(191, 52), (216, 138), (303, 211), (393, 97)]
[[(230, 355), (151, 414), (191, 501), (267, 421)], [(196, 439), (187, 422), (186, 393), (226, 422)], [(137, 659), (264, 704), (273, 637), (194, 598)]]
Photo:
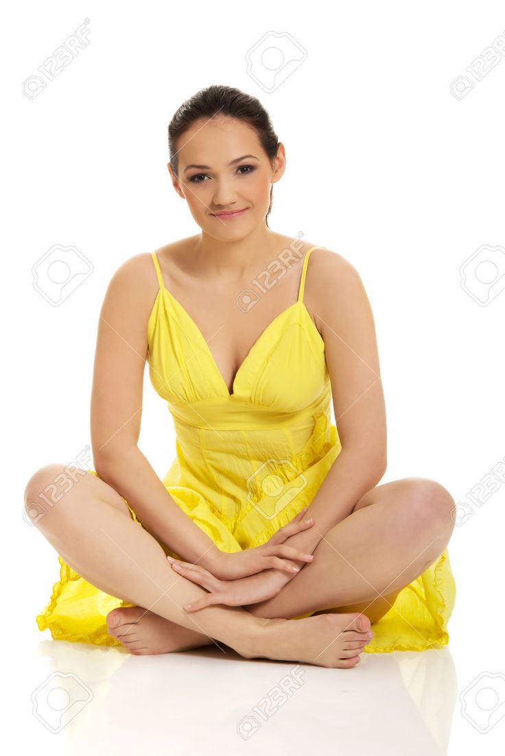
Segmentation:
[[(260, 101), (252, 95), (235, 87), (212, 85), (201, 89), (189, 100), (186, 100), (176, 110), (168, 125), (168, 151), (170, 167), (177, 175), (177, 140), (199, 119), (208, 120), (214, 116), (229, 116), (237, 118), (251, 126), (257, 133), (260, 144), (270, 162), (277, 154), (279, 140), (273, 130), (272, 122), (267, 110)], [(268, 226), (268, 216), (272, 209), (273, 187), (270, 187), (270, 205), (265, 220)], [(269, 227), (270, 228), (270, 227)]]

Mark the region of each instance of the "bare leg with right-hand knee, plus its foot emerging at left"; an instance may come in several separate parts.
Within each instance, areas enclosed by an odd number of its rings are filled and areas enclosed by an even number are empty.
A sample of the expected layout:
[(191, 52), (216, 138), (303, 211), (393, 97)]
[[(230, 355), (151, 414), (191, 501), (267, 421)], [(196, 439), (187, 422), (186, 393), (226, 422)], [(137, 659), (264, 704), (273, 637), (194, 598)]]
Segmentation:
[[(401, 588), (420, 575), (444, 549), (454, 527), (447, 515), (453, 503), (445, 488), (426, 479), (401, 479), (376, 486), (354, 507), (354, 513), (368, 510), (366, 515), (352, 514), (332, 528), (326, 541), (314, 552), (317, 561), (305, 565), (303, 572), (272, 600), (245, 608), (260, 617), (292, 617), (312, 611), (313, 607), (304, 602), (307, 595), (316, 593), (313, 603), (325, 606), (326, 601), (327, 606), (314, 615), (360, 612), (371, 623), (379, 621), (391, 609)], [(430, 544), (427, 550), (426, 544)], [(307, 578), (305, 586), (302, 575)], [(329, 596), (320, 592), (321, 587), (328, 588), (328, 575), (341, 575), (338, 584), (330, 586)], [(392, 581), (395, 576), (397, 579)], [(387, 587), (388, 583), (391, 585)], [(289, 603), (279, 606), (285, 601), (288, 586), (293, 590), (288, 596)], [(372, 597), (355, 603), (359, 596), (368, 595), (363, 594), (363, 586)], [(132, 652), (167, 653), (207, 642), (200, 634), (189, 634), (191, 631), (176, 624), (164, 623), (138, 606), (114, 609), (108, 621), (111, 634), (120, 637), (121, 643)]]

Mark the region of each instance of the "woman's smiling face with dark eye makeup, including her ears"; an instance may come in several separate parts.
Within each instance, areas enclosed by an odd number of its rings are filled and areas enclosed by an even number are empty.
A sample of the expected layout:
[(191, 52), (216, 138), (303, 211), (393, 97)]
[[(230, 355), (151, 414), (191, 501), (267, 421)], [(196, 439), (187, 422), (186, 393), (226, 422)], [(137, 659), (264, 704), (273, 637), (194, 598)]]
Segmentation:
[[(271, 184), (285, 169), (282, 144), (272, 166), (254, 129), (219, 116), (195, 122), (178, 142), (179, 176), (170, 163), (168, 169), (202, 231), (217, 239), (240, 239), (265, 222)], [(244, 212), (223, 214), (239, 210)]]

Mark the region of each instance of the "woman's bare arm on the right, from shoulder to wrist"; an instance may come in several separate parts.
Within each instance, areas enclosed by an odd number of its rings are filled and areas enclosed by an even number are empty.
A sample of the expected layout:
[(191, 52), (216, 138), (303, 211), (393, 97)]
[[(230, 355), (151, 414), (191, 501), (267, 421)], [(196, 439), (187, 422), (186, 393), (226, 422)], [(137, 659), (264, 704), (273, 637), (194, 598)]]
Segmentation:
[(307, 517), (314, 519), (313, 528), (285, 541), (313, 553), (329, 529), (377, 485), (386, 469), (387, 453), (376, 331), (360, 275), (350, 262), (329, 250), (315, 249), (310, 267), (307, 297), (312, 290), (342, 447), (307, 510)]

